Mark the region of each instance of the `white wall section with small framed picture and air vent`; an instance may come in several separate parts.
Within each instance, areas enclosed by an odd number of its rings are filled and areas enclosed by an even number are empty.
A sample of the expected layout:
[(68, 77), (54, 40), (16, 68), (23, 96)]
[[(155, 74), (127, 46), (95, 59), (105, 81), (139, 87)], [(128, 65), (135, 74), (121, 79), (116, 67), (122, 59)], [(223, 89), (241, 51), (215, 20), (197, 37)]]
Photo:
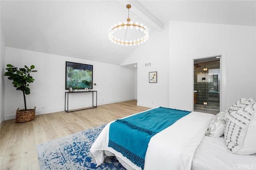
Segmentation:
[[(169, 45), (168, 25), (163, 31), (154, 31), (148, 41), (142, 45), (122, 64), (137, 63), (138, 106), (168, 107), (169, 105)], [(146, 63), (151, 66), (146, 67)], [(149, 72), (157, 72), (157, 83), (149, 83)]]

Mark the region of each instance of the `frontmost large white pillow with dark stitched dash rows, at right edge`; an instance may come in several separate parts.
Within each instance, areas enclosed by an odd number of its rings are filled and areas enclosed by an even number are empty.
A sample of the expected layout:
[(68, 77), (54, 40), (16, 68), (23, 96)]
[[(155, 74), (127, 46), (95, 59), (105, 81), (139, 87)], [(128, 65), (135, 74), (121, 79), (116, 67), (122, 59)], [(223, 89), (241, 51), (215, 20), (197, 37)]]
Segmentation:
[(256, 153), (256, 103), (227, 114), (224, 139), (228, 152)]

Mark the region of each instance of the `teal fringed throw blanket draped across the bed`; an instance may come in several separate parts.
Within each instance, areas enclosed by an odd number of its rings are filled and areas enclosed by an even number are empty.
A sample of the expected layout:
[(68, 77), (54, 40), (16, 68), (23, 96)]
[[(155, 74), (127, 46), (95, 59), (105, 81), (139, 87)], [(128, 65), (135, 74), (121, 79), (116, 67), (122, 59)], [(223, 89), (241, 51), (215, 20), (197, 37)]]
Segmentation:
[(144, 169), (148, 143), (156, 133), (166, 129), (190, 111), (158, 107), (110, 124), (108, 147), (121, 152)]

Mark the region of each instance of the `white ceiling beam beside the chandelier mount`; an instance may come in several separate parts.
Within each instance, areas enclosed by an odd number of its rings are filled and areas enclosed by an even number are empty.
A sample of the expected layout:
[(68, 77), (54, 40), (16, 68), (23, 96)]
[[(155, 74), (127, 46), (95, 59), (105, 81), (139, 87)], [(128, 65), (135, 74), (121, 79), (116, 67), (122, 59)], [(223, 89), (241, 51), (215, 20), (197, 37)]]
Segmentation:
[(158, 31), (162, 31), (164, 29), (164, 24), (162, 24), (156, 17), (154, 17), (150, 12), (148, 12), (142, 5), (139, 4), (136, 0), (117, 0), (123, 6), (127, 4), (131, 4), (132, 7), (130, 11), (134, 14), (145, 20), (148, 24), (154, 27)]

